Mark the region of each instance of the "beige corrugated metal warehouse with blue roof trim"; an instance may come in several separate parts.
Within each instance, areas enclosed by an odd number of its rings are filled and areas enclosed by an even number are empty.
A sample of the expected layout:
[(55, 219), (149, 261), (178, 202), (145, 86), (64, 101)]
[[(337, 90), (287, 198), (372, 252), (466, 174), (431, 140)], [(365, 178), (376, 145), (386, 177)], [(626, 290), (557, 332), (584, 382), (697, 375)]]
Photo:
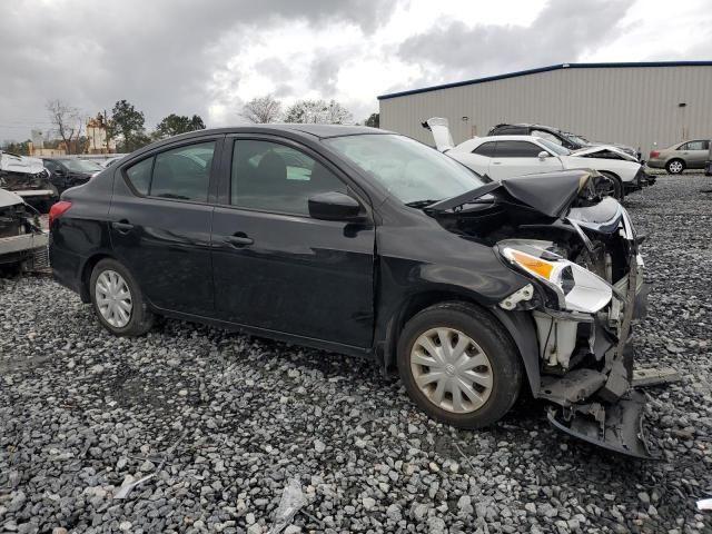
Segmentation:
[(380, 127), (433, 145), (421, 123), (449, 120), (455, 142), (502, 122), (538, 122), (641, 148), (712, 137), (712, 61), (564, 63), (378, 97)]

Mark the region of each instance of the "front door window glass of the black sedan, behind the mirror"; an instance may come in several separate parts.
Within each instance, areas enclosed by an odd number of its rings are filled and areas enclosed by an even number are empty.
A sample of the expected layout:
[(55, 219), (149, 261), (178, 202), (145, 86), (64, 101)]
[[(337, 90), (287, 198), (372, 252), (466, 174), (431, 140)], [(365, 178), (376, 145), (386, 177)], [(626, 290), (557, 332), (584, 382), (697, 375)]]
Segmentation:
[(300, 150), (273, 141), (235, 141), (230, 178), (233, 206), (306, 216), (309, 198), (330, 191), (346, 194), (347, 187)]

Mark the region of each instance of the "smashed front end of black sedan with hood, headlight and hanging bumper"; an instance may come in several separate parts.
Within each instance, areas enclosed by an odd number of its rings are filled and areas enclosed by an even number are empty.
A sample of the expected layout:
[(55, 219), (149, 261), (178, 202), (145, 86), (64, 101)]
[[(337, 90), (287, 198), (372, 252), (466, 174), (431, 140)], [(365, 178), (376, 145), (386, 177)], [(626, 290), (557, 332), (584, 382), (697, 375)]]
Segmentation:
[[(528, 315), (536, 398), (554, 427), (617, 453), (650, 458), (644, 396), (633, 389), (632, 328), (646, 310), (642, 238), (614, 199), (595, 197), (595, 171), (487, 184), (431, 207), (452, 231), (493, 246), (530, 278), (498, 307)], [(453, 201), (454, 200), (454, 201)], [(532, 370), (532, 368), (534, 370)]]

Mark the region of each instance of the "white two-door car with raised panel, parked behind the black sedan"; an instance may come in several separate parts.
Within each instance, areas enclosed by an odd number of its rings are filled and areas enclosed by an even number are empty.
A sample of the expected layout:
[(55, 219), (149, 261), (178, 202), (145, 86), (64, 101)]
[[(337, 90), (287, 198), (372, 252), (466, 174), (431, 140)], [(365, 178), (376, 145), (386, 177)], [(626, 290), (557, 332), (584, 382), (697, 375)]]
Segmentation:
[(626, 192), (649, 185), (649, 177), (636, 161), (596, 158), (595, 152), (571, 152), (555, 142), (534, 136), (475, 137), (455, 146), (447, 119), (427, 121), (441, 152), (493, 180), (540, 175), (564, 169), (594, 169), (596, 192), (622, 199)]

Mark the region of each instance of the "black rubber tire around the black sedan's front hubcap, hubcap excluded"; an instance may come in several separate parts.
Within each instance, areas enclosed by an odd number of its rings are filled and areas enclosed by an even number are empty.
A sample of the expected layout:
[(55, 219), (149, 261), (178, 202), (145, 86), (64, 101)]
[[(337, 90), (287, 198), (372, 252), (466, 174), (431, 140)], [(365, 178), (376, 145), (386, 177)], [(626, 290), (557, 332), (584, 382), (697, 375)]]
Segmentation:
[[(411, 366), (411, 353), (418, 337), (436, 327), (453, 328), (474, 340), (490, 360), (492, 388), (474, 412), (443, 409), (421, 390)], [(458, 428), (482, 428), (500, 421), (514, 405), (522, 385), (522, 362), (504, 328), (486, 312), (466, 303), (443, 303), (416, 314), (398, 339), (398, 372), (411, 399), (434, 419)]]

